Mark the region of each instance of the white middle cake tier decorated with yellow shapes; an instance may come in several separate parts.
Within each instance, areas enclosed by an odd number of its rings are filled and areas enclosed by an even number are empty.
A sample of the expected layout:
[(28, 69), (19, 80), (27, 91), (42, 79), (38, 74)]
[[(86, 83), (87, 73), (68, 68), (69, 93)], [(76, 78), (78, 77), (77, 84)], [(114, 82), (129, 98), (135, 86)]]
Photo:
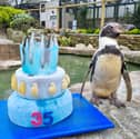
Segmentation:
[[(52, 75), (39, 75), (39, 76), (28, 76), (22, 71), (22, 69), (18, 69), (14, 75), (17, 91), (21, 97), (28, 99), (49, 99), (54, 98), (63, 93), (64, 89), (67, 89), (69, 81), (66, 82), (67, 86), (63, 88), (63, 80), (68, 78), (64, 70), (60, 67), (57, 68), (57, 71)], [(67, 80), (66, 80), (67, 81)], [(13, 86), (14, 82), (11, 82)]]

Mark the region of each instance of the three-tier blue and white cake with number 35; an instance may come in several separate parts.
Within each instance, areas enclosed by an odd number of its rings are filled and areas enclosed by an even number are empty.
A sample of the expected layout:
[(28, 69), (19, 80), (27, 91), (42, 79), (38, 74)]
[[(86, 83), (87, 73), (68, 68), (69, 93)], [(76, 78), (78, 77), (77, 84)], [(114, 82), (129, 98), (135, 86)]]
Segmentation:
[(31, 33), (20, 44), (22, 66), (11, 77), (10, 120), (22, 127), (51, 126), (72, 112), (70, 78), (58, 67), (54, 34)]

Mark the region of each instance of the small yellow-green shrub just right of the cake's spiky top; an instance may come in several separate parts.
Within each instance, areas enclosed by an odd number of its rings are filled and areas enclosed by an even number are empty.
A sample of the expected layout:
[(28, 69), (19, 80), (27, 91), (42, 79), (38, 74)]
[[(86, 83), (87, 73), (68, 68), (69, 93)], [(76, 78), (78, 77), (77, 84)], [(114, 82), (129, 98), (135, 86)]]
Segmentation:
[(59, 43), (60, 43), (61, 47), (71, 46), (71, 38), (60, 37), (59, 38)]

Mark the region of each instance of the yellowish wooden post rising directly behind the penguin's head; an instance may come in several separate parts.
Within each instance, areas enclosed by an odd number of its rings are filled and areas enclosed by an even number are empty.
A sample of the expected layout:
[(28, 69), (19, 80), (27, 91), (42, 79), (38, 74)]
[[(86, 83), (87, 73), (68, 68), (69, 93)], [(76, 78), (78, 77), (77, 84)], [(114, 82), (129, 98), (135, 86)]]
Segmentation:
[(100, 28), (104, 26), (104, 17), (106, 17), (106, 0), (101, 1), (101, 24)]

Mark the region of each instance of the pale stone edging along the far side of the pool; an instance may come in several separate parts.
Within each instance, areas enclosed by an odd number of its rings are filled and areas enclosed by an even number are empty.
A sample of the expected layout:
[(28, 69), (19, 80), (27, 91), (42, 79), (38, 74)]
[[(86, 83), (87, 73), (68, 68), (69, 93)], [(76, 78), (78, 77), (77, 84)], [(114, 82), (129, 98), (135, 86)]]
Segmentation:
[[(12, 50), (12, 51), (16, 51), (18, 59), (19, 59), (19, 52), (17, 52), (17, 51), (19, 51), (18, 47), (16, 50)], [(94, 51), (96, 51), (96, 49), (88, 49), (88, 48), (84, 48), (84, 49), (78, 49), (78, 48), (72, 48), (72, 47), (60, 47), (59, 48), (60, 53), (77, 54), (77, 56), (84, 56), (84, 57), (92, 57)], [(140, 64), (140, 51), (122, 50), (122, 53), (124, 54), (127, 62)], [(1, 53), (1, 54), (3, 54), (3, 53)], [(16, 54), (14, 54), (14, 58), (16, 58)], [(0, 59), (0, 70), (9, 69), (11, 67), (16, 67), (16, 66), (20, 66), (20, 64), (21, 64), (20, 60)]]

